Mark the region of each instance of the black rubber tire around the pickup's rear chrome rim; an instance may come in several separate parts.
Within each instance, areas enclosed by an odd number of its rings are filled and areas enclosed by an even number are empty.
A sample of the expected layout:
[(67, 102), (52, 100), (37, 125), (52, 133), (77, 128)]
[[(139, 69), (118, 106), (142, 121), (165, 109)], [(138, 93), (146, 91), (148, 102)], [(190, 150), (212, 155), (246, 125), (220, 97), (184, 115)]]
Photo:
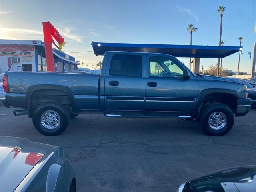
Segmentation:
[[(48, 110), (57, 112), (60, 118), (58, 121), (58, 126), (56, 126), (56, 128), (49, 129), (44, 127), (43, 123), (41, 123), (42, 114), (44, 114), (44, 112)], [(36, 130), (41, 134), (47, 135), (47, 136), (54, 136), (64, 132), (64, 130), (66, 130), (66, 128), (68, 127), (69, 121), (70, 121), (70, 114), (68, 110), (61, 104), (56, 104), (56, 103), (41, 104), (33, 114), (33, 124)]]

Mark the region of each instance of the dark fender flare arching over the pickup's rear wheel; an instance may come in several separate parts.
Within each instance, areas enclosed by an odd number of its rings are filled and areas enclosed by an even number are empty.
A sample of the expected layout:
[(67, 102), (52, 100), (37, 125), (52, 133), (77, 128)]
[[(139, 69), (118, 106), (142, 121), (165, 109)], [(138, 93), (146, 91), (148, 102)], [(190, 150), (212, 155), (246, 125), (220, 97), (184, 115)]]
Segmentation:
[(28, 91), (26, 93), (26, 105), (29, 107), (30, 106), (30, 101), (33, 93), (37, 90), (44, 90), (44, 89), (50, 89), (50, 90), (60, 90), (65, 92), (68, 95), (68, 98), (70, 99), (70, 104), (71, 108), (73, 111), (76, 110), (76, 104), (75, 104), (75, 99), (74, 99), (74, 94), (72, 90), (67, 87), (67, 86), (62, 86), (62, 85), (33, 85), (28, 88)]

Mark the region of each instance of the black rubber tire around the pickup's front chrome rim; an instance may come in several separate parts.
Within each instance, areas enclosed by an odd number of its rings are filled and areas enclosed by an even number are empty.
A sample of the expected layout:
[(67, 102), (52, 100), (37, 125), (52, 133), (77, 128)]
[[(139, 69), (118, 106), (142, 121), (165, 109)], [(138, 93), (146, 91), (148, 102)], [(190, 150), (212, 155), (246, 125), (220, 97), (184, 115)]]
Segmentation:
[[(216, 130), (210, 126), (209, 118), (214, 112), (221, 112), (226, 116), (226, 124), (222, 128)], [(210, 103), (202, 109), (200, 120), (200, 127), (210, 136), (222, 136), (228, 133), (234, 125), (234, 114), (232, 110), (221, 103)]]

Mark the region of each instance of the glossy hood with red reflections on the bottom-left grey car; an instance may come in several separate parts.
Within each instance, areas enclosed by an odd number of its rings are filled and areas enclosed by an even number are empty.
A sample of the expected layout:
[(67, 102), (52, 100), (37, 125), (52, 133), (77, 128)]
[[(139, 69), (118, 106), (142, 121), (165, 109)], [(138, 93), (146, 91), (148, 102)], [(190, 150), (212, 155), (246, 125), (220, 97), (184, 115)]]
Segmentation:
[(52, 147), (25, 138), (0, 136), (0, 191), (14, 191)]

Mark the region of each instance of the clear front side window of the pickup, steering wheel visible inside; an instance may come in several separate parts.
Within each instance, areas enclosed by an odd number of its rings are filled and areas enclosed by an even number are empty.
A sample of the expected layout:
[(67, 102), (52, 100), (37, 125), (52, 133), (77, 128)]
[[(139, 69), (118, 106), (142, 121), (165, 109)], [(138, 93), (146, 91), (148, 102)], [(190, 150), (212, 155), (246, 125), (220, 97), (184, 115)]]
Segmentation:
[(183, 78), (183, 70), (170, 58), (150, 56), (149, 76)]

